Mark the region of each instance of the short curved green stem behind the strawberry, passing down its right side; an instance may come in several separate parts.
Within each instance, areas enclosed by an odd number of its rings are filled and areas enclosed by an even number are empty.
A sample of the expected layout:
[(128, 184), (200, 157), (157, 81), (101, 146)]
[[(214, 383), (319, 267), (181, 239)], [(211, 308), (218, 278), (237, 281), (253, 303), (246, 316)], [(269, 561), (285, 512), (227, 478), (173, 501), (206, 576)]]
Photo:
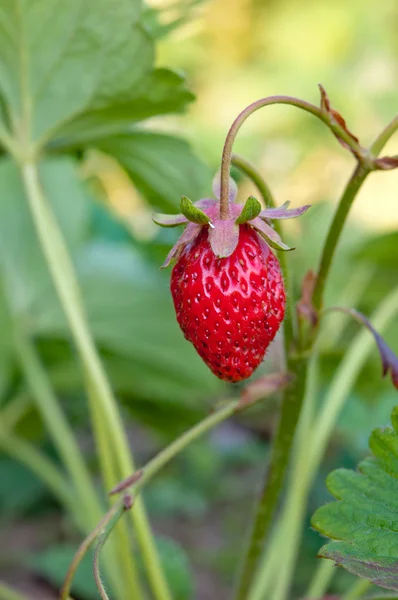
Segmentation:
[[(254, 183), (254, 185), (260, 192), (260, 195), (264, 201), (265, 206), (274, 208), (276, 206), (276, 203), (272, 196), (272, 192), (271, 192), (270, 188), (268, 187), (267, 183), (264, 181), (261, 174), (257, 171), (257, 169), (248, 160), (246, 160), (245, 158), (242, 158), (241, 156), (238, 156), (237, 154), (232, 155), (231, 163), (237, 169), (239, 169), (242, 173), (244, 173), (246, 175), (246, 177), (248, 177)], [(279, 235), (283, 238), (283, 235), (282, 235), (283, 228), (282, 228), (282, 224), (280, 223), (280, 221), (276, 220), (274, 222), (274, 228), (275, 228), (275, 231), (277, 233), (279, 233)], [(294, 296), (293, 296), (291, 278), (289, 275), (289, 269), (288, 269), (286, 258), (287, 258), (286, 252), (278, 253), (278, 260), (281, 265), (283, 279), (285, 282), (285, 289), (287, 292), (286, 295), (289, 299), (289, 301), (288, 301), (289, 316), (287, 319), (285, 319), (284, 324), (283, 324), (285, 352), (286, 352), (286, 356), (287, 356), (290, 351), (291, 343), (295, 339), (295, 336), (297, 334), (297, 323), (296, 323), (296, 313), (294, 310), (294, 303), (293, 303), (293, 301), (290, 301), (290, 299), (293, 299)]]

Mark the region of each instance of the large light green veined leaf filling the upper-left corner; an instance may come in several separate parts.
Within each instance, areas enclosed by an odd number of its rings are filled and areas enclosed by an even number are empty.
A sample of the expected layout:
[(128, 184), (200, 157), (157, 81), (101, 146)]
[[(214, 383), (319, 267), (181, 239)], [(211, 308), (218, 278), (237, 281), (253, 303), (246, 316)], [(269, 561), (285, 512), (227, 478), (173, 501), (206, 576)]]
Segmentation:
[(50, 136), (89, 108), (123, 97), (150, 71), (139, 0), (4, 0), (0, 94), (12, 126)]

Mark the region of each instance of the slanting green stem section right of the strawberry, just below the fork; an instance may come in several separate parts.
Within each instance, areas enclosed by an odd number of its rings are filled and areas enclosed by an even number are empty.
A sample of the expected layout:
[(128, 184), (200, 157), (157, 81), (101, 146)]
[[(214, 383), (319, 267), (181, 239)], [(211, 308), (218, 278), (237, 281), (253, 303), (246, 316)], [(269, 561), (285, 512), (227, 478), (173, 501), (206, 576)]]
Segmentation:
[(319, 263), (315, 289), (312, 296), (314, 307), (320, 310), (323, 306), (323, 295), (325, 291), (326, 280), (329, 276), (330, 267), (332, 265), (335, 249), (340, 239), (341, 232), (347, 219), (352, 203), (361, 188), (366, 177), (371, 172), (369, 166), (358, 164), (355, 168), (350, 180), (344, 190), (336, 214), (328, 231), (325, 240), (325, 245), (322, 250), (322, 256)]

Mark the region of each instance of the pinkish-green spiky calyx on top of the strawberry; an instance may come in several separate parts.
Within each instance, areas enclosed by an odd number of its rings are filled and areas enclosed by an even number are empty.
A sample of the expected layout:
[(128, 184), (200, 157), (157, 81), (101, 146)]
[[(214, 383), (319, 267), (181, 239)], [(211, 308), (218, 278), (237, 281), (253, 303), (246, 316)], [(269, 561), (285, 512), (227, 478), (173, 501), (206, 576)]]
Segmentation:
[(177, 260), (184, 247), (197, 238), (203, 227), (207, 227), (209, 230), (209, 243), (213, 253), (218, 258), (226, 258), (234, 252), (239, 242), (240, 226), (245, 224), (255, 229), (274, 250), (294, 250), (294, 248), (284, 244), (280, 235), (273, 229), (272, 221), (274, 219), (299, 217), (310, 208), (310, 205), (289, 209), (290, 202), (285, 202), (277, 208), (262, 209), (260, 202), (254, 196), (249, 196), (244, 205), (238, 204), (234, 202), (237, 195), (236, 183), (231, 179), (228, 204), (229, 216), (227, 219), (221, 219), (218, 176), (213, 181), (213, 193), (216, 199), (202, 198), (195, 203), (186, 196), (182, 196), (181, 213), (177, 215), (159, 213), (153, 215), (153, 221), (161, 227), (186, 226), (183, 234), (167, 255), (162, 268), (168, 267), (171, 261)]

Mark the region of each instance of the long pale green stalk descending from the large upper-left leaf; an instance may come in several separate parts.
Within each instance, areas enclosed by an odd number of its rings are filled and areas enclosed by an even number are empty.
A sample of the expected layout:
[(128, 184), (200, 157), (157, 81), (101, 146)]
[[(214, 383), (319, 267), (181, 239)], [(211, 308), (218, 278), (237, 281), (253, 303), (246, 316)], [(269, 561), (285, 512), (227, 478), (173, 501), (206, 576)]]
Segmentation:
[[(68, 249), (40, 185), (36, 163), (34, 161), (22, 161), (21, 169), (40, 244), (47, 259), (81, 361), (98, 399), (98, 405), (91, 406), (91, 409), (103, 413), (103, 419), (108, 428), (107, 435), (112, 440), (120, 475), (121, 477), (127, 477), (134, 471), (128, 439), (116, 400), (87, 324), (79, 285)], [(135, 510), (131, 514), (154, 596), (157, 600), (171, 600), (142, 502), (137, 502)]]

